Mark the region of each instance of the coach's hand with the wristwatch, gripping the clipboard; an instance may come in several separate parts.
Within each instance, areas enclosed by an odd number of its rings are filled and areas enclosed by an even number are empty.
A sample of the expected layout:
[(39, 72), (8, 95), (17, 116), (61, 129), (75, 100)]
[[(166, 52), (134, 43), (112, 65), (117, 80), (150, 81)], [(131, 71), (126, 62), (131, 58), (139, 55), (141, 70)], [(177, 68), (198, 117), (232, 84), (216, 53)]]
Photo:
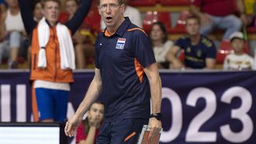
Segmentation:
[(151, 139), (161, 131), (162, 123), (158, 121), (157, 118), (150, 118), (149, 126), (150, 134), (148, 135), (148, 139), (151, 141)]

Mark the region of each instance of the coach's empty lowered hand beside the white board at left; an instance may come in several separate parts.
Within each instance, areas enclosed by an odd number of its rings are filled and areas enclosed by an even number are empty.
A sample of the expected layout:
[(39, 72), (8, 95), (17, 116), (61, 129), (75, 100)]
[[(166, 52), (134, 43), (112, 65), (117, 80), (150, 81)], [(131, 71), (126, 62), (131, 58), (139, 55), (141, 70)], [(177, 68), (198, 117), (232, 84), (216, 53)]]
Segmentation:
[(73, 115), (67, 122), (65, 126), (65, 134), (69, 137), (74, 136), (78, 130), (78, 125), (81, 123), (82, 118), (78, 115)]

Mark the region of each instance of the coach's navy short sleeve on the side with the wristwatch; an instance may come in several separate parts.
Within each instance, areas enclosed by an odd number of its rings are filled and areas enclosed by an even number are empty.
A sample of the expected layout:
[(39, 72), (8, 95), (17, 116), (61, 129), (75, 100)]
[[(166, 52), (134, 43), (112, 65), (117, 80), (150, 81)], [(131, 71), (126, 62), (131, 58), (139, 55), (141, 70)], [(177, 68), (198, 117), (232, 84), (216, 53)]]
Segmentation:
[(134, 56), (142, 67), (156, 62), (150, 39), (144, 31), (137, 29), (133, 32), (132, 45)]

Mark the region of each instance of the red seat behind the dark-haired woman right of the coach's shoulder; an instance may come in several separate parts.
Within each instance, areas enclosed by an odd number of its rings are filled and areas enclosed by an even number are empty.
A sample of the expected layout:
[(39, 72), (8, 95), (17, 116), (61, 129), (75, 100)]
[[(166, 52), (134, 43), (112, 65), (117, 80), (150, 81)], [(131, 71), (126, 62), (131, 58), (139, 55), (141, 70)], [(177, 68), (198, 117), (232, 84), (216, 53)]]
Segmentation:
[(163, 22), (167, 30), (171, 29), (171, 19), (169, 12), (146, 12), (143, 19), (143, 28), (146, 33), (150, 32), (151, 26), (154, 22)]

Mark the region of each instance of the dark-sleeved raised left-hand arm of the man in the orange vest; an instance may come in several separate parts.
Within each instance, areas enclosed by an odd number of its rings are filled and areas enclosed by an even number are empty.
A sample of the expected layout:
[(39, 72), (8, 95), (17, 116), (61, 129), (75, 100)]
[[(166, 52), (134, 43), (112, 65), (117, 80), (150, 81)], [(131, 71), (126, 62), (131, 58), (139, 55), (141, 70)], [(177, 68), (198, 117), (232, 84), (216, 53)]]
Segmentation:
[(36, 27), (37, 22), (33, 19), (33, 12), (29, 0), (19, 0), (19, 9), (22, 15), (26, 33), (29, 35)]

